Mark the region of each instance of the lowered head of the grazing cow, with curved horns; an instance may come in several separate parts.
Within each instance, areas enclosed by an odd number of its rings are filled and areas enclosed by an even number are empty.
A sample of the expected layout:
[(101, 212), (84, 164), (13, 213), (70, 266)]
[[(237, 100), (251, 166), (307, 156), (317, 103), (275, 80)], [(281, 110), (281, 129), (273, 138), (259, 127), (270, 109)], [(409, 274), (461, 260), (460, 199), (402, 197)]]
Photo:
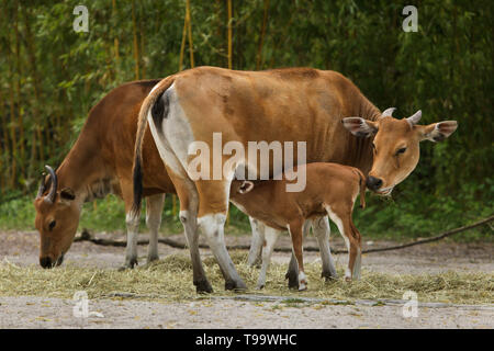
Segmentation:
[(80, 207), (71, 189), (57, 190), (57, 176), (49, 166), (45, 167), (48, 177), (43, 177), (34, 200), (34, 225), (40, 231), (40, 264), (43, 268), (52, 268), (61, 264), (64, 254), (72, 244), (79, 224)]

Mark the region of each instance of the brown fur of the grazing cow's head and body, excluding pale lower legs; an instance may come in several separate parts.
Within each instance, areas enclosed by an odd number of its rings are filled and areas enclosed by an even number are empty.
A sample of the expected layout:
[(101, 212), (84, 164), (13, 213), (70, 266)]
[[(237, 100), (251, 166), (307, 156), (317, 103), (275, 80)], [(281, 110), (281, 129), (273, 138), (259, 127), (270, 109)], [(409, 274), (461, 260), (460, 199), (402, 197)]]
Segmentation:
[[(80, 206), (93, 200), (90, 188), (102, 184), (101, 189), (112, 190), (124, 200), (126, 212), (130, 210), (137, 115), (144, 98), (158, 82), (147, 80), (125, 83), (112, 90), (91, 109), (76, 144), (56, 170), (58, 189), (55, 202), (48, 203), (44, 197), (34, 201), (35, 226), (41, 236), (40, 258), (48, 257), (55, 262), (70, 248), (79, 224)], [(148, 128), (145, 132), (143, 195), (175, 193), (150, 132)], [(49, 190), (47, 188), (45, 194)], [(76, 199), (60, 199), (63, 189), (71, 189)], [(49, 230), (49, 222), (54, 219), (56, 226)]]

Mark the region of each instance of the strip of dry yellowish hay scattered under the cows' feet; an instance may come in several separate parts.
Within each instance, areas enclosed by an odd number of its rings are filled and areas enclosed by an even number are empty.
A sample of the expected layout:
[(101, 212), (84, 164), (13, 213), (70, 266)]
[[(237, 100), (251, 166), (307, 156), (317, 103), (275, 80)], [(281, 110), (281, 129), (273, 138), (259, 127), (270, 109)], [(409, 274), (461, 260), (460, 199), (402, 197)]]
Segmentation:
[[(287, 265), (277, 263), (271, 264), (266, 288), (259, 292), (254, 290), (259, 270), (247, 265), (247, 253), (234, 251), (232, 259), (250, 288), (247, 293), (252, 294), (356, 301), (400, 299), (404, 292), (414, 291), (420, 302), (492, 304), (494, 301), (492, 273), (449, 271), (437, 274), (386, 274), (363, 270), (361, 281), (347, 283), (343, 279), (344, 268), (339, 267), (340, 278), (324, 282), (318, 263), (306, 264), (306, 292), (289, 290), (284, 280)], [(212, 295), (195, 293), (192, 265), (186, 254), (171, 254), (150, 265), (123, 272), (75, 265), (43, 270), (37, 265), (18, 267), (3, 261), (0, 263), (0, 295), (71, 298), (75, 292), (86, 291), (89, 298), (128, 296), (164, 302), (235, 295), (233, 292), (225, 292), (223, 276), (213, 258), (204, 260), (204, 269), (214, 288)]]

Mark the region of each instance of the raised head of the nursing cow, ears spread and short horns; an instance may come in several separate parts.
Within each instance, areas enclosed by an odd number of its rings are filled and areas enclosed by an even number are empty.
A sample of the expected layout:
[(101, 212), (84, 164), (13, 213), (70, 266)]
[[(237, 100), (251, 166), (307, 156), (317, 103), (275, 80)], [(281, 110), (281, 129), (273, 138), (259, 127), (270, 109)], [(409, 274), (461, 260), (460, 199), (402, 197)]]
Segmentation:
[(415, 169), (422, 140), (441, 141), (458, 126), (456, 121), (418, 125), (420, 111), (407, 118), (396, 120), (392, 116), (394, 110), (385, 110), (374, 122), (361, 117), (347, 117), (341, 121), (351, 134), (373, 137), (374, 158), (367, 186), (382, 195), (391, 194), (393, 188)]

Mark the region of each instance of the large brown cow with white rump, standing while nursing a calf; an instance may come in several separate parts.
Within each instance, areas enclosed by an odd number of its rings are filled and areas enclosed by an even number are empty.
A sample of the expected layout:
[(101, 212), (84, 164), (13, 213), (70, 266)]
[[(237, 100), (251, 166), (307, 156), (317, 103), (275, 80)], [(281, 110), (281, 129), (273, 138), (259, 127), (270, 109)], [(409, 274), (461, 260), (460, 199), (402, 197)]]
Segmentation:
[[(332, 161), (359, 168), (367, 185), (390, 194), (416, 167), (419, 141), (442, 140), (457, 128), (454, 121), (418, 125), (420, 112), (408, 118), (380, 112), (347, 78), (308, 68), (234, 71), (199, 67), (165, 78), (143, 102), (134, 161), (134, 208), (138, 213), (142, 169), (146, 167), (143, 137), (147, 121), (178, 196), (198, 290), (210, 284), (197, 249), (197, 227), (206, 236), (225, 279), (225, 288), (245, 288), (226, 251), (224, 223), (229, 184), (238, 167), (258, 176), (257, 163), (245, 158), (229, 163), (221, 179), (192, 180), (190, 145), (214, 149), (222, 141), (305, 141), (306, 162)], [(147, 118), (147, 121), (146, 121)], [(351, 132), (351, 133), (348, 133)], [(293, 156), (296, 162), (297, 156)], [(231, 156), (222, 155), (220, 165)], [(217, 165), (214, 157), (210, 168)], [(272, 163), (272, 160), (271, 160)], [(272, 166), (272, 165), (271, 165)], [(225, 169), (223, 169), (225, 171)], [(271, 167), (272, 170), (272, 167)]]

